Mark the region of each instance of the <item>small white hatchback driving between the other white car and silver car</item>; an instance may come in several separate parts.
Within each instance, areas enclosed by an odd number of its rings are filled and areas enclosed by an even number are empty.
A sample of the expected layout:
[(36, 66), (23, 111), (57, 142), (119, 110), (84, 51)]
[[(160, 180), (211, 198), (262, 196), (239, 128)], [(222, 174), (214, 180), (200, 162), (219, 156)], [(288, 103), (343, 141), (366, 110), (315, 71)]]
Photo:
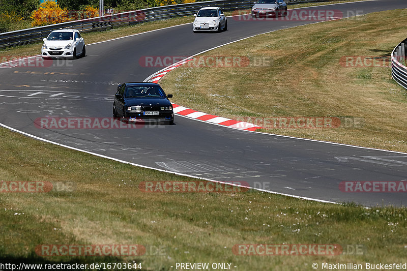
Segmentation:
[(195, 20), (192, 23), (192, 30), (194, 33), (200, 31), (227, 30), (227, 19), (221, 8), (201, 8), (197, 14), (194, 14), (194, 16)]

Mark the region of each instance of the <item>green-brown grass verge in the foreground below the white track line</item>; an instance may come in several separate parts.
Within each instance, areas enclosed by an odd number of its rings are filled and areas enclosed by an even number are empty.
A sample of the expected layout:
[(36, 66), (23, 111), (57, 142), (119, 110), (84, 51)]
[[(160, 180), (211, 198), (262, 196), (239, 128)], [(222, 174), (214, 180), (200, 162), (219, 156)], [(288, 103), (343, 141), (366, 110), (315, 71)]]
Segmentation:
[[(144, 193), (145, 181), (187, 177), (133, 167), (0, 129), (4, 181), (70, 182), (71, 192), (1, 193), (2, 263), (231, 262), (239, 270), (304, 270), (313, 262), (398, 262), (405, 257), (407, 209), (327, 204), (257, 191)], [(38, 256), (39, 245), (130, 245), (146, 255)], [(339, 244), (361, 254), (243, 256), (237, 244)], [(160, 253), (156, 252), (161, 248)]]

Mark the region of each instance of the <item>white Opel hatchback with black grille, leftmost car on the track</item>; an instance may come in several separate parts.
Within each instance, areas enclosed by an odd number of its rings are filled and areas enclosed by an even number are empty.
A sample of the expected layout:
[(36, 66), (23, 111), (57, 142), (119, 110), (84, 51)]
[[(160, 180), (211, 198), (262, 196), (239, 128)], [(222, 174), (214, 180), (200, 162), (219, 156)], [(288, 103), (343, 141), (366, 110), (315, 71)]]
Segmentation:
[(43, 41), (42, 58), (76, 58), (86, 54), (85, 42), (76, 29), (52, 31)]

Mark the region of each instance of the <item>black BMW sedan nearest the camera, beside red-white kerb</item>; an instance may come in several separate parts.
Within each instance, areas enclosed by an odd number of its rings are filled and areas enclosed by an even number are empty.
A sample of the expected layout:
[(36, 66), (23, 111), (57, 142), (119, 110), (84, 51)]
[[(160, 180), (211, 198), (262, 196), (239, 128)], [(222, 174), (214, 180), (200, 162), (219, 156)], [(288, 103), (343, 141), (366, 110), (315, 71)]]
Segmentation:
[(123, 83), (114, 95), (113, 117), (126, 121), (174, 123), (171, 102), (159, 84), (146, 82)]

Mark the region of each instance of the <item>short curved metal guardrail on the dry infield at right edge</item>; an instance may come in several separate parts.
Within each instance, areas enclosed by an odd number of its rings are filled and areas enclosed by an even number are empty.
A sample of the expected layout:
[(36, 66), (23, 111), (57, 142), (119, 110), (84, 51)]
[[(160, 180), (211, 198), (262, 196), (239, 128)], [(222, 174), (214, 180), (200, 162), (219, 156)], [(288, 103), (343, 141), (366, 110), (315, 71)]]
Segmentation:
[(405, 89), (407, 89), (406, 52), (407, 39), (400, 42), (391, 53), (391, 76)]

